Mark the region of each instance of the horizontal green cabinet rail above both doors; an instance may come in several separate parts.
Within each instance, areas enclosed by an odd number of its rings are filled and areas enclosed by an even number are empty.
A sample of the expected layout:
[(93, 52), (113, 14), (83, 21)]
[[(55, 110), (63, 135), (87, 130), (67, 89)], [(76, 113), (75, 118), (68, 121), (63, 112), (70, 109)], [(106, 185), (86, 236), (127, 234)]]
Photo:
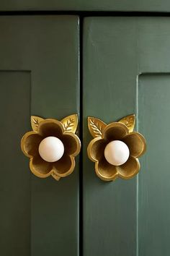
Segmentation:
[(1, 11), (150, 11), (169, 12), (169, 0), (1, 0)]

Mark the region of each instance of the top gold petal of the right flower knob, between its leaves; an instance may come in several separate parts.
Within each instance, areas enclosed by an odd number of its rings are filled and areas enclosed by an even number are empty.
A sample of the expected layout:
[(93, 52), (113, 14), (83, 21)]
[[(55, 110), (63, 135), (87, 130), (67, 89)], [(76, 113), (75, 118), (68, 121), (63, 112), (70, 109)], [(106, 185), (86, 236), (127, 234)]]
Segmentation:
[(122, 140), (123, 137), (128, 135), (129, 131), (125, 124), (113, 122), (104, 128), (103, 133), (104, 139), (110, 142), (112, 140)]

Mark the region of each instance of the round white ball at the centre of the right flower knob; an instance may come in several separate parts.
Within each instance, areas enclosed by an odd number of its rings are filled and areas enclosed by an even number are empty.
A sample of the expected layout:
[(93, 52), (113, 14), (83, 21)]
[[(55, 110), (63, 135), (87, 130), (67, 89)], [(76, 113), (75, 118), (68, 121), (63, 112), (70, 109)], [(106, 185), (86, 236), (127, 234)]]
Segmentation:
[(129, 154), (128, 146), (120, 140), (109, 142), (104, 149), (104, 156), (107, 162), (113, 166), (121, 166), (128, 160)]

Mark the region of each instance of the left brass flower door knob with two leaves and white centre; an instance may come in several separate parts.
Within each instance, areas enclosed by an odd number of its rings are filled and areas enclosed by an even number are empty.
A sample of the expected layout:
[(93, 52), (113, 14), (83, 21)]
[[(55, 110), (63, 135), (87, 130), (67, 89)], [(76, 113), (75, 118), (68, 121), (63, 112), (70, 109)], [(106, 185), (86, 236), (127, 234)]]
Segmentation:
[(76, 114), (57, 119), (42, 119), (31, 116), (32, 131), (21, 141), (22, 151), (30, 158), (30, 170), (40, 178), (53, 176), (56, 180), (66, 177), (75, 168), (75, 156), (81, 142), (75, 135), (78, 117)]

